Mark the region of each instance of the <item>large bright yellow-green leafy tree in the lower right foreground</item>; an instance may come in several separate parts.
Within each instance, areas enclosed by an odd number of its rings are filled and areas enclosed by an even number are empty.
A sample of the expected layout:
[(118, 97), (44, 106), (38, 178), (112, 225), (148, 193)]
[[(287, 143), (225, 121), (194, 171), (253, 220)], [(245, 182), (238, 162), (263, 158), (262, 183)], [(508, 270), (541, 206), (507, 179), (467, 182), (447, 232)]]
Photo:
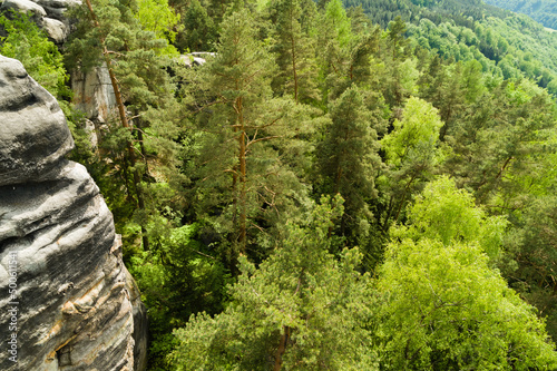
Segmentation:
[(506, 223), (442, 177), (393, 232), (374, 331), (385, 370), (548, 370), (557, 354), (534, 309), (491, 269)]

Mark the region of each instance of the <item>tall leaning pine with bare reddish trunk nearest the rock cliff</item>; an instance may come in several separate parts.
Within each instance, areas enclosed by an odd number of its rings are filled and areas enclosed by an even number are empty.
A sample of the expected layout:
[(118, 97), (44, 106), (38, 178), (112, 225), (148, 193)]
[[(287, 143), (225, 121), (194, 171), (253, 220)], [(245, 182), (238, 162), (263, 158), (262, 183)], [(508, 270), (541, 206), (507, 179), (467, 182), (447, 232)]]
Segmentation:
[[(150, 110), (153, 115), (155, 109), (164, 111), (166, 105), (172, 105), (174, 100), (174, 89), (164, 70), (167, 58), (162, 52), (167, 42), (143, 30), (131, 8), (116, 0), (98, 0), (95, 3), (87, 0), (82, 7), (76, 7), (72, 14), (80, 21), (67, 47), (67, 64), (84, 72), (102, 64), (108, 69), (121, 129), (113, 130), (117, 136), (105, 137), (100, 147), (108, 149), (107, 155), (114, 154), (114, 159), (120, 159), (106, 163), (113, 164), (116, 172), (123, 173), (127, 201), (135, 204), (135, 209), (138, 211), (144, 248), (149, 250), (146, 215), (152, 215), (155, 211), (147, 211), (141, 182), (148, 168), (138, 160), (138, 154), (147, 165), (143, 137), (148, 126), (145, 114)], [(170, 136), (175, 134), (168, 127), (160, 128), (158, 134), (164, 138), (168, 131)], [(126, 148), (126, 155), (121, 154), (121, 145)], [(117, 214), (117, 219), (120, 216), (129, 219), (135, 212), (129, 205), (125, 209), (126, 215)]]

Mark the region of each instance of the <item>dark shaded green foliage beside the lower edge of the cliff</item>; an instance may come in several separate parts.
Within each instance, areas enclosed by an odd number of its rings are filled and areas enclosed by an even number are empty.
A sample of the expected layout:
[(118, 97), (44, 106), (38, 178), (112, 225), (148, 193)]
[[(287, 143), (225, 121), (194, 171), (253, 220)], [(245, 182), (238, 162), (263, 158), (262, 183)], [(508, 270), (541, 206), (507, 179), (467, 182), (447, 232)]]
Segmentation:
[(197, 225), (174, 228), (152, 253), (131, 258), (131, 274), (149, 309), (152, 370), (168, 369), (165, 357), (174, 346), (169, 336), (174, 328), (185, 325), (193, 313), (223, 310), (228, 275), (212, 252), (194, 240), (198, 230)]

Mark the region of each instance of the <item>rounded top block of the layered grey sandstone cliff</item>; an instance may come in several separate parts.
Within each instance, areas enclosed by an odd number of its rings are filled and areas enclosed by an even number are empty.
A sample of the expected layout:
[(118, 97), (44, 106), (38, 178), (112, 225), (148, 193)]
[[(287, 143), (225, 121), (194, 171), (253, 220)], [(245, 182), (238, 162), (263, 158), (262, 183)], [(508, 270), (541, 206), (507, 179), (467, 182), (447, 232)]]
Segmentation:
[(56, 99), (0, 56), (0, 186), (39, 180), (74, 146)]

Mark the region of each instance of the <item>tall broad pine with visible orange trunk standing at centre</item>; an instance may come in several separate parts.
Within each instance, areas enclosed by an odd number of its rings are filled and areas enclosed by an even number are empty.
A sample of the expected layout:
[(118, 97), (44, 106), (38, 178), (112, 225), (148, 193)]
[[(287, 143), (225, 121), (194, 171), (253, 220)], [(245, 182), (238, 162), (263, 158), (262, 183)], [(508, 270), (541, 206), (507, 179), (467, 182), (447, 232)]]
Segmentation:
[(205, 98), (197, 97), (197, 129), (204, 131), (199, 215), (213, 218), (214, 228), (228, 236), (232, 248), (224, 254), (231, 266), (255, 242), (255, 232), (289, 215), (287, 205), (306, 193), (296, 168), (305, 166), (309, 146), (296, 138), (311, 129), (311, 115), (291, 98), (272, 98), (275, 65), (256, 31), (247, 9), (231, 11), (215, 58), (196, 75), (206, 91)]

